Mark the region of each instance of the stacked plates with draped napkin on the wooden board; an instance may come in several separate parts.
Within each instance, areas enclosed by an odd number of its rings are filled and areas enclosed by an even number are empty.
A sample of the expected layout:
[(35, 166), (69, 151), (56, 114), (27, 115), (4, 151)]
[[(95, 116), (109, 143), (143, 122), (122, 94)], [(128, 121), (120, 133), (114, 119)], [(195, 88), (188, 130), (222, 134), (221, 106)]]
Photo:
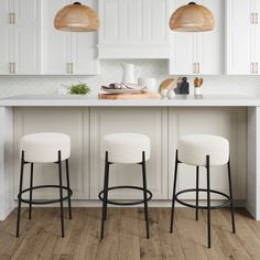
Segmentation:
[(112, 83), (109, 86), (101, 86), (101, 90), (109, 94), (134, 94), (147, 93), (148, 88), (137, 84)]

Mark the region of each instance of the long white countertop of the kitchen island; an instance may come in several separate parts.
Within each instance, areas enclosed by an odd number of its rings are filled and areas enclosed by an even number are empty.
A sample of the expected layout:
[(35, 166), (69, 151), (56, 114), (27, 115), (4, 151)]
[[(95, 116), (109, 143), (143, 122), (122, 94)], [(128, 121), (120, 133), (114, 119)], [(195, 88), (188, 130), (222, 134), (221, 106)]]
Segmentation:
[(99, 100), (86, 96), (21, 95), (0, 99), (0, 107), (257, 107), (260, 98), (237, 95), (177, 95), (174, 99)]

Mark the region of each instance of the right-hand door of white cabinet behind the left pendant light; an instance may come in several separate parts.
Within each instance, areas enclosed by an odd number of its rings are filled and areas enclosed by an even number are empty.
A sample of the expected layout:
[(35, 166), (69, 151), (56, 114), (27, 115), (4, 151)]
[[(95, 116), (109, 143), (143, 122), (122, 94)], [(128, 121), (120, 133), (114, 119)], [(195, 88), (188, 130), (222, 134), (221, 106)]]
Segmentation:
[[(86, 1), (93, 9), (97, 10), (97, 1)], [(73, 33), (72, 35), (72, 62), (73, 74), (96, 75), (100, 73), (99, 61), (97, 59), (97, 32)]]

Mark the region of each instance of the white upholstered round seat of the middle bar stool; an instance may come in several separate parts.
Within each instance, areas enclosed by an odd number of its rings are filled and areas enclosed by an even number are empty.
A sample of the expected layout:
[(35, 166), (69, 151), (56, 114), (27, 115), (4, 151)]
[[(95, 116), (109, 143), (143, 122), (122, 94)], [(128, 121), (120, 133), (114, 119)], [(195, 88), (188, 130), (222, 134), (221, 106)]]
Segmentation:
[(145, 161), (150, 159), (150, 138), (138, 133), (112, 133), (102, 139), (101, 154), (108, 152), (108, 161), (111, 163), (140, 163), (142, 152), (145, 152)]

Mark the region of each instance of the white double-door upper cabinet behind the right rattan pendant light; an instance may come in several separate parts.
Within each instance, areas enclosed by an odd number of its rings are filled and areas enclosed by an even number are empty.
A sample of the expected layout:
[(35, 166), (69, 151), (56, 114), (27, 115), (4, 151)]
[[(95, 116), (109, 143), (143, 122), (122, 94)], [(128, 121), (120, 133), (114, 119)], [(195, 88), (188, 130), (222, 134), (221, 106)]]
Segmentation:
[[(224, 1), (202, 0), (214, 14), (214, 31), (202, 33), (171, 32), (172, 52), (169, 61), (170, 74), (219, 75), (224, 73)], [(173, 10), (186, 4), (176, 0)]]

